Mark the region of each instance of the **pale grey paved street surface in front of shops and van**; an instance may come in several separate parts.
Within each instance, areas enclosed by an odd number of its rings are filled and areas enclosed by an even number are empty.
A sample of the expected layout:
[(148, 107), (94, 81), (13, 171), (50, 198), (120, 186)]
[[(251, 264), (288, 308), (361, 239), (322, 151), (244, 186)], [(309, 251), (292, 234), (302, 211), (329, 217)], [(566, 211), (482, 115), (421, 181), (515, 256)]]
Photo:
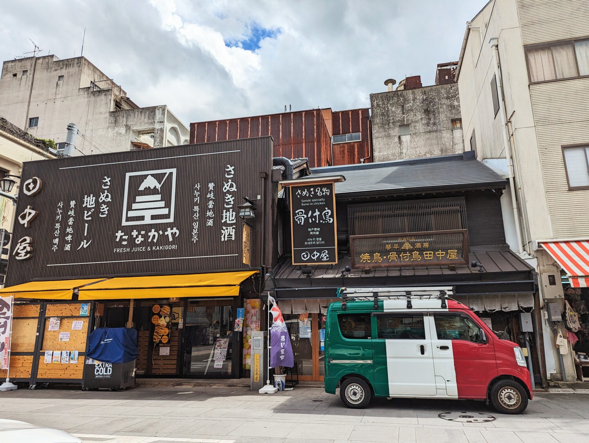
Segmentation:
[[(444, 412), (497, 419), (448, 421), (438, 417)], [(64, 429), (88, 443), (589, 442), (586, 394), (537, 394), (523, 415), (510, 416), (474, 401), (376, 399), (367, 409), (346, 409), (339, 397), (306, 388), (274, 395), (229, 387), (19, 389), (0, 393), (0, 417)]]

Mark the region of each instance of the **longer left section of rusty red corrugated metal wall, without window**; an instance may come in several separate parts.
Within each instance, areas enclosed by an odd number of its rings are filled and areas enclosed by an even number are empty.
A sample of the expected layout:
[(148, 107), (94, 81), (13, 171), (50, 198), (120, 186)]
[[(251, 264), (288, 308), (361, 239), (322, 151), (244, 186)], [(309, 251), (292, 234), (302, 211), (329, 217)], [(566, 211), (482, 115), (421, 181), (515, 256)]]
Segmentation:
[(322, 109), (190, 124), (191, 143), (265, 135), (272, 135), (274, 139), (274, 156), (307, 157), (312, 168), (333, 164), (331, 141)]

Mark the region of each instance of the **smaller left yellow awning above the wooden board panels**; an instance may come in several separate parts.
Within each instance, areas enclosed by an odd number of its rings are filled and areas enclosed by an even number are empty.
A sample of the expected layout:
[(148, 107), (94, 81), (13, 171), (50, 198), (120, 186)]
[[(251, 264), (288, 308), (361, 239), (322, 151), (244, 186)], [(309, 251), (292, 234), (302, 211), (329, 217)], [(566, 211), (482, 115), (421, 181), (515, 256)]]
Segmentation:
[(22, 285), (0, 289), (1, 295), (14, 295), (14, 298), (35, 298), (49, 300), (71, 300), (74, 289), (84, 287), (104, 278), (82, 280), (31, 281)]

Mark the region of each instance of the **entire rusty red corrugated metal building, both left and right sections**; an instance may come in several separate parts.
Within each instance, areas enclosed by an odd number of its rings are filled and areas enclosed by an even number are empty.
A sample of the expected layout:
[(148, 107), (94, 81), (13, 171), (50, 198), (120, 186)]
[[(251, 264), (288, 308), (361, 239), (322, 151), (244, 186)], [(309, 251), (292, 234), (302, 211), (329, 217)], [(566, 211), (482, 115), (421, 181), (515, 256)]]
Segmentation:
[[(336, 118), (332, 133), (332, 114)], [(331, 136), (362, 132), (361, 142), (337, 145), (332, 150)], [(309, 159), (309, 166), (332, 166), (372, 161), (369, 110), (332, 112), (330, 108), (283, 112), (196, 122), (190, 124), (191, 143), (209, 143), (271, 135), (274, 139), (274, 156)]]

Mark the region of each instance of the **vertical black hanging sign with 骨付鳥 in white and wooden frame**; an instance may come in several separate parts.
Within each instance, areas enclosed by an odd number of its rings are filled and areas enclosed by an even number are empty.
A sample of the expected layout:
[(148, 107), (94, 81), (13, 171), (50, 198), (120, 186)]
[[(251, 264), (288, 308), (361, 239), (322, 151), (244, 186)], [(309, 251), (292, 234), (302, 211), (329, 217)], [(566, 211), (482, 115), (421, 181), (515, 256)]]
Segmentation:
[(293, 265), (337, 263), (333, 182), (290, 186)]

